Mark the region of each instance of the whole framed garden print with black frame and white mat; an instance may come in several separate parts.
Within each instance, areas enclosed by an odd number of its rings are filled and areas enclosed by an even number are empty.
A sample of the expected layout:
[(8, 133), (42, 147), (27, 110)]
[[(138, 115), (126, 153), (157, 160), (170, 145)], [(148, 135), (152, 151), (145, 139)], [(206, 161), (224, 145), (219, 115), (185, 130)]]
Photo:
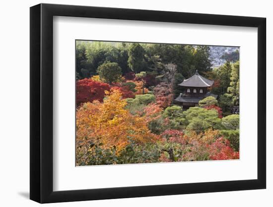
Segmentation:
[(266, 19), (30, 8), (30, 199), (266, 188)]

